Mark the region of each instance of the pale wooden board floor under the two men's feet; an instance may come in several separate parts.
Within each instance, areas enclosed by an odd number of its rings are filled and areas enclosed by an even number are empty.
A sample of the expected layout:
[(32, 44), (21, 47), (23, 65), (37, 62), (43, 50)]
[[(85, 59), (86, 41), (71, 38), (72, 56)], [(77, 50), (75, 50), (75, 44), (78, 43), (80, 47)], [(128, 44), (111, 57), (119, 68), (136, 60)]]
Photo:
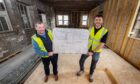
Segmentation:
[[(112, 52), (104, 49), (100, 55), (94, 73), (94, 82), (88, 82), (91, 57), (85, 62), (85, 74), (77, 77), (80, 54), (60, 54), (58, 61), (59, 81), (54, 81), (50, 75), (47, 83), (43, 82), (44, 71), (42, 63), (36, 68), (25, 84), (140, 84), (140, 71)], [(51, 71), (52, 71), (52, 66)], [(52, 72), (51, 72), (52, 73)]]

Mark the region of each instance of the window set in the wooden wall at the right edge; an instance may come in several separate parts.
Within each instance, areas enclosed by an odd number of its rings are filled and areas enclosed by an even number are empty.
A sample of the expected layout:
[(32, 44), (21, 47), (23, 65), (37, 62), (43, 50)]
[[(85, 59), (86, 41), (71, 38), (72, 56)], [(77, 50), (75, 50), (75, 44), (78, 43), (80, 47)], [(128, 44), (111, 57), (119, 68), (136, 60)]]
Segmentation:
[(140, 9), (138, 11), (135, 25), (133, 27), (132, 32), (130, 33), (130, 36), (134, 38), (140, 38)]

